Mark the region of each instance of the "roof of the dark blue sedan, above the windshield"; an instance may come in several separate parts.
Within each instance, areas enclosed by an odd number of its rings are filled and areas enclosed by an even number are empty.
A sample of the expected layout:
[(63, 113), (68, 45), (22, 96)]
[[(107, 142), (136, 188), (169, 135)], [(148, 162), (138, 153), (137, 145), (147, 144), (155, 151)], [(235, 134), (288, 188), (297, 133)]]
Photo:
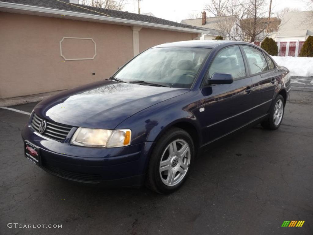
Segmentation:
[(238, 44), (247, 44), (253, 45), (247, 42), (241, 41), (227, 41), (227, 40), (193, 40), (193, 41), (180, 41), (180, 42), (171, 42), (160, 44), (155, 47), (199, 47), (199, 48), (214, 48), (220, 44), (225, 44), (225, 46), (229, 45), (238, 45)]

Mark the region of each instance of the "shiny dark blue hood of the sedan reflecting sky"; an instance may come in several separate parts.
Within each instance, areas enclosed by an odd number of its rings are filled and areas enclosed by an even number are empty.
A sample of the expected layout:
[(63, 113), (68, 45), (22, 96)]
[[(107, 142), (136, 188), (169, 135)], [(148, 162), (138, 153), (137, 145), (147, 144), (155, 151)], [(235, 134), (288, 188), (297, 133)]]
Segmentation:
[(60, 92), (38, 103), (34, 112), (70, 126), (114, 129), (135, 113), (188, 91), (105, 80)]

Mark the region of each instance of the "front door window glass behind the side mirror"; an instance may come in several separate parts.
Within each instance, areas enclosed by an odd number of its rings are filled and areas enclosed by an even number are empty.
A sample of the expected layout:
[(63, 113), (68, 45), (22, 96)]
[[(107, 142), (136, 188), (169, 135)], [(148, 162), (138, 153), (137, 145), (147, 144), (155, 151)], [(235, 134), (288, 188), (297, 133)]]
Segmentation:
[(244, 59), (239, 46), (227, 47), (218, 52), (209, 68), (209, 78), (217, 72), (229, 73), (234, 79), (246, 76)]

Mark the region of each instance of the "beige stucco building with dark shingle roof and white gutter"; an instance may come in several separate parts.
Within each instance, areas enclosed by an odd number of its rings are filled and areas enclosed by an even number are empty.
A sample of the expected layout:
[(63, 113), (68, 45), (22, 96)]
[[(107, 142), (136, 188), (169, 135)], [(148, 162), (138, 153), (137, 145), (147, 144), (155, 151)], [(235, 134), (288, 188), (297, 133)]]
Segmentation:
[(149, 47), (206, 30), (65, 0), (0, 1), (0, 22), (1, 99), (108, 78)]

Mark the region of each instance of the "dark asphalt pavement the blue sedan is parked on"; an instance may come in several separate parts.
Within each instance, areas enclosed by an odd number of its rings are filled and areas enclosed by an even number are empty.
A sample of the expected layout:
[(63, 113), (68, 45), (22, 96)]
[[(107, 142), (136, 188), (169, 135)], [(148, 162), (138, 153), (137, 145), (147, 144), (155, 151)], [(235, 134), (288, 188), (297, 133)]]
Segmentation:
[(0, 234), (313, 234), (313, 89), (291, 91), (278, 130), (258, 125), (213, 145), (166, 196), (46, 173), (23, 155), (28, 118), (0, 108)]

